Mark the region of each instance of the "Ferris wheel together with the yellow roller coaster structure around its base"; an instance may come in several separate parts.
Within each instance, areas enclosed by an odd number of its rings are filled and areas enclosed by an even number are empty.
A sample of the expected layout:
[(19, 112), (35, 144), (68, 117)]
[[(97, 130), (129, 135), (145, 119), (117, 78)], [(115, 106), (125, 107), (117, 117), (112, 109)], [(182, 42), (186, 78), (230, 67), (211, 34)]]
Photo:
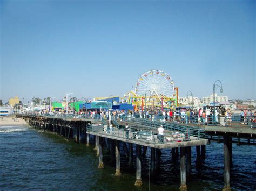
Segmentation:
[(135, 89), (122, 98), (136, 108), (162, 109), (178, 106), (178, 87), (169, 74), (161, 70), (148, 70), (138, 78)]

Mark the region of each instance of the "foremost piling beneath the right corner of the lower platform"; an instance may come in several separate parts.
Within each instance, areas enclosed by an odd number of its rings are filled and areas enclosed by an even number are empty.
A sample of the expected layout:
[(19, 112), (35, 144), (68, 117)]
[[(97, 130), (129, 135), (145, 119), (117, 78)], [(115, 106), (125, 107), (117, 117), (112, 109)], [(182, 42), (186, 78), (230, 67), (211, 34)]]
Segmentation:
[(180, 147), (180, 187), (179, 190), (186, 191), (186, 148)]

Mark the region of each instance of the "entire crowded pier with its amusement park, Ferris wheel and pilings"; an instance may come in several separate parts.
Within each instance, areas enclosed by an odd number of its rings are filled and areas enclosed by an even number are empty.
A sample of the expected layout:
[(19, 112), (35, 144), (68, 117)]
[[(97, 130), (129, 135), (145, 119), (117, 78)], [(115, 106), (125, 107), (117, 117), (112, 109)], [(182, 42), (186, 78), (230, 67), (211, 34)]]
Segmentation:
[(129, 166), (136, 166), (134, 185), (138, 187), (143, 185), (142, 156), (150, 155), (148, 165), (154, 174), (161, 172), (161, 152), (170, 149), (170, 157), (180, 164), (179, 189), (190, 189), (186, 178), (191, 176), (192, 148), (196, 148), (196, 163), (200, 166), (207, 157), (207, 145), (211, 141), (223, 142), (223, 190), (231, 190), (232, 144), (255, 145), (255, 115), (250, 108), (242, 110), (244, 115), (235, 114), (231, 104), (216, 94), (223, 89), (222, 82), (216, 80), (210, 103), (197, 103), (191, 91), (187, 91), (186, 103), (179, 103), (179, 88), (171, 76), (149, 70), (123, 97), (77, 99), (71, 96), (73, 93), (66, 93), (59, 102), (53, 97), (46, 102), (34, 99), (28, 104), (15, 104), (14, 110), (17, 118), (25, 119), (33, 128), (76, 143), (95, 144), (98, 168), (106, 166), (103, 151), (109, 151), (116, 166), (115, 176), (126, 173), (120, 165), (123, 145)]

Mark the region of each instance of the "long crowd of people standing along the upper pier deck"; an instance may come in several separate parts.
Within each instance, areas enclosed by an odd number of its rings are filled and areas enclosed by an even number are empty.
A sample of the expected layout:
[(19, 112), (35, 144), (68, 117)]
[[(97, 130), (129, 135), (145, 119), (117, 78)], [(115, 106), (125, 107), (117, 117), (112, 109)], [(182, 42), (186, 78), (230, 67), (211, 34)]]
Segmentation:
[[(37, 111), (33, 114), (39, 115), (66, 115), (66, 111), (44, 111), (42, 113)], [(88, 111), (79, 111), (75, 112), (69, 111), (69, 114), (73, 114), (74, 118), (94, 118), (97, 120), (102, 120), (102, 118), (109, 119), (109, 111), (106, 109), (102, 110), (88, 110)], [(225, 109), (224, 107), (218, 107), (215, 109), (215, 117), (214, 117), (214, 111), (212, 107), (205, 107), (197, 109), (182, 109), (179, 114), (176, 113), (176, 111), (170, 109), (170, 110), (149, 110), (146, 111), (143, 110), (137, 110), (137, 111), (127, 111), (127, 110), (114, 110), (111, 111), (112, 117), (115, 119), (121, 118), (122, 116), (130, 116), (134, 118), (153, 118), (153, 119), (160, 119), (161, 121), (177, 121), (183, 124), (197, 124), (197, 125), (208, 125), (208, 124), (220, 124), (224, 126), (231, 126), (232, 121), (232, 112), (230, 109)], [(225, 117), (225, 123), (221, 124), (221, 117)], [(242, 124), (250, 124), (250, 122), (255, 122), (256, 120), (256, 112), (252, 114), (250, 109), (241, 109), (240, 112), (240, 123)]]

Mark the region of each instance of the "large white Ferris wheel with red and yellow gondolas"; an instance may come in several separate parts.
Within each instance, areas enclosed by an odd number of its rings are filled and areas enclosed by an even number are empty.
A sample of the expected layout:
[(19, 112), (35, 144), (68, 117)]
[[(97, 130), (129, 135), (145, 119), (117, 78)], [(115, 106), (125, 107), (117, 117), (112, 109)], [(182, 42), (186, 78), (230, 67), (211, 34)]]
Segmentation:
[(137, 96), (173, 97), (174, 82), (169, 74), (161, 70), (148, 70), (137, 80), (135, 86)]

